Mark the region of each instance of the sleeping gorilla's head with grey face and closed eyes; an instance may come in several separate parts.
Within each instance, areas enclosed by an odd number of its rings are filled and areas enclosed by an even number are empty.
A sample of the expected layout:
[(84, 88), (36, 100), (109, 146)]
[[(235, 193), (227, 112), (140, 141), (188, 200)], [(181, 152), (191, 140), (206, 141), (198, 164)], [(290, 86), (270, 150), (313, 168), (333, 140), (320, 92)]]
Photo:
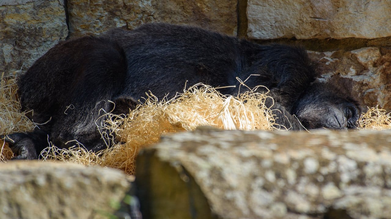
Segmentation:
[(296, 102), (293, 114), (307, 129), (357, 128), (361, 114), (359, 104), (343, 94), (346, 95), (346, 92), (331, 83), (315, 82)]

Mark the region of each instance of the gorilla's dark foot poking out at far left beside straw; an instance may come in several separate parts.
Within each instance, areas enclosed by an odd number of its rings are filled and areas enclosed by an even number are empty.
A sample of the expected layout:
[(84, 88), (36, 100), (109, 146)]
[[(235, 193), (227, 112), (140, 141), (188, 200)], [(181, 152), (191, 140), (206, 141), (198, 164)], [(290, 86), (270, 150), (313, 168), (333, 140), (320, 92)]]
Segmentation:
[(16, 157), (13, 160), (19, 159), (38, 159), (35, 144), (32, 138), (28, 134), (24, 133), (13, 133), (7, 135), (1, 135), (0, 139), (8, 143)]

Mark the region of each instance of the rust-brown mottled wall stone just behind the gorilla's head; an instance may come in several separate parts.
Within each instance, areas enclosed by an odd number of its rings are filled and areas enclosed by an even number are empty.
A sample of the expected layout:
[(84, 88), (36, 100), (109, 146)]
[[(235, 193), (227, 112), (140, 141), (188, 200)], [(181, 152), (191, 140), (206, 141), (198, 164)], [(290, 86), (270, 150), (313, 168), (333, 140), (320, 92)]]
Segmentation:
[(367, 47), (353, 51), (309, 52), (323, 79), (352, 80), (364, 106), (391, 110), (391, 49)]

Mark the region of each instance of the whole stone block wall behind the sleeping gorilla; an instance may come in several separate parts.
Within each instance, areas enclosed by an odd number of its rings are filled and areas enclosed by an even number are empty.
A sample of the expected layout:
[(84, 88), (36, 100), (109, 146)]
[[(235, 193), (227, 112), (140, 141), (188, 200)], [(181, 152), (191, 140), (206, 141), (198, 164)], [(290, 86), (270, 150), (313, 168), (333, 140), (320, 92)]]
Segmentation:
[(391, 110), (389, 20), (387, 0), (0, 0), (0, 72), (27, 69), (67, 37), (191, 24), (261, 43), (303, 44), (323, 79), (352, 79), (364, 107)]

